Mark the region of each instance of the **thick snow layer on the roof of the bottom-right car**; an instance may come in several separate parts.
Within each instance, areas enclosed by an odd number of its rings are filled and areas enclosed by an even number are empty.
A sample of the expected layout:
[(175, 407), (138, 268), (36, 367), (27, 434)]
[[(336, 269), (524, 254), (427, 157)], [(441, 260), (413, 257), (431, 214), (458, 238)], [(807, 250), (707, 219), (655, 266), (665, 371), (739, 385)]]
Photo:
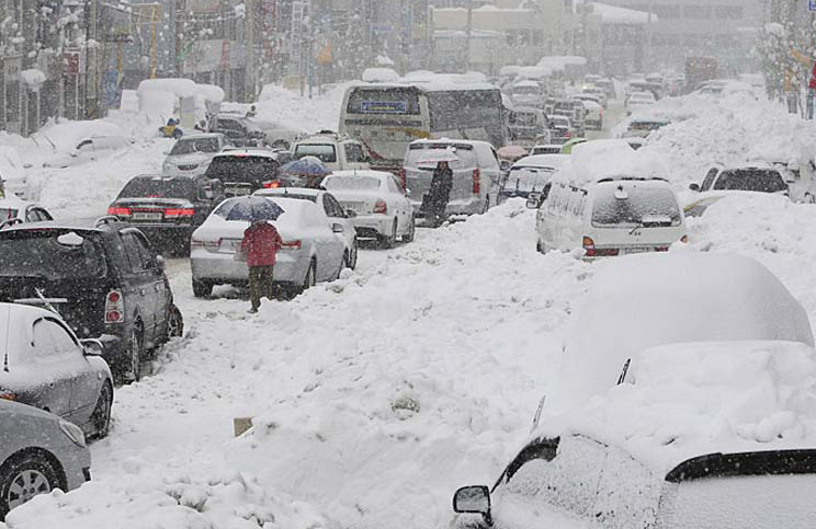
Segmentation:
[(626, 383), (544, 435), (589, 434), (666, 472), (712, 452), (811, 447), (816, 352), (792, 342), (690, 343), (645, 350)]

